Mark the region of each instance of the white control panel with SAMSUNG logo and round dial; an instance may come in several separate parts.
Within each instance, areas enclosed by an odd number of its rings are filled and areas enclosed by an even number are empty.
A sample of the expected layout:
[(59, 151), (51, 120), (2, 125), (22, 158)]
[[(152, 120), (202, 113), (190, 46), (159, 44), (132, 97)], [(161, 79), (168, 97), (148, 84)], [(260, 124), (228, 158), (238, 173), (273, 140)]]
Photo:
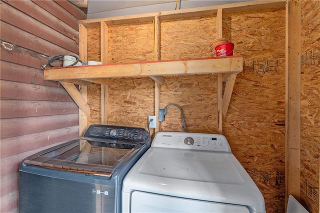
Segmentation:
[(221, 134), (158, 132), (152, 146), (231, 152), (227, 139)]

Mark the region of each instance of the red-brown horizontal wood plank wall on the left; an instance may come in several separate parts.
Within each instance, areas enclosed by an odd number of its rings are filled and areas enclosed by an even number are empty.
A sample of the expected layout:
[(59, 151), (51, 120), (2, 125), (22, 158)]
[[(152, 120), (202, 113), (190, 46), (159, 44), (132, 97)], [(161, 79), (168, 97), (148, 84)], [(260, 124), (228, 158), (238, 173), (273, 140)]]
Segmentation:
[(40, 66), (50, 55), (78, 54), (86, 16), (67, 0), (0, 3), (0, 212), (17, 212), (21, 160), (78, 136), (78, 107)]

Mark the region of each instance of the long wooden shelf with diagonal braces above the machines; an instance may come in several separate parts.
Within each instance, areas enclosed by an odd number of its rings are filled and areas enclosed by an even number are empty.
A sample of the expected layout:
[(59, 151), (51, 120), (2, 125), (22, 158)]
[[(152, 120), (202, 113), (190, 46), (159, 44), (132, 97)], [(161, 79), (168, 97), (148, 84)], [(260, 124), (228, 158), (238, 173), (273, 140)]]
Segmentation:
[[(90, 117), (90, 107), (74, 84), (88, 85), (90, 83), (99, 83), (107, 85), (107, 78), (145, 76), (151, 77), (157, 83), (163, 83), (162, 76), (217, 73), (217, 102), (219, 103), (217, 122), (221, 126), (229, 106), (236, 74), (242, 71), (242, 61), (242, 56), (225, 56), (49, 67), (43, 70), (43, 78), (45, 80), (60, 81), (84, 115)], [(222, 81), (226, 82), (224, 89), (222, 89)], [(224, 91), (223, 94), (222, 90)], [(218, 131), (221, 131), (219, 129)]]

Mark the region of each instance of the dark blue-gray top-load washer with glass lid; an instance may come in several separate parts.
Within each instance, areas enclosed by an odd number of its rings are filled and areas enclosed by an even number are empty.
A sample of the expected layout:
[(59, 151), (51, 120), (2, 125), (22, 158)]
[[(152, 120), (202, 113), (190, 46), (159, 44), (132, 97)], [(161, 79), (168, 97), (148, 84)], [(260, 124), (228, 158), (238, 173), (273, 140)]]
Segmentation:
[(19, 212), (121, 212), (122, 180), (149, 146), (144, 128), (91, 125), (83, 137), (25, 158)]

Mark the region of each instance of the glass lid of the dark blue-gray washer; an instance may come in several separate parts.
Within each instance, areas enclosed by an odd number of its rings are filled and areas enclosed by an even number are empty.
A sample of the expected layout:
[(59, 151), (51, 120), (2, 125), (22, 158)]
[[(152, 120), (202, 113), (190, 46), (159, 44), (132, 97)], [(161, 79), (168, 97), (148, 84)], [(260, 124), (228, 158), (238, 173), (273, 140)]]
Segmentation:
[(23, 163), (50, 169), (110, 177), (117, 166), (141, 144), (121, 144), (116, 148), (106, 143), (76, 139), (33, 154)]

